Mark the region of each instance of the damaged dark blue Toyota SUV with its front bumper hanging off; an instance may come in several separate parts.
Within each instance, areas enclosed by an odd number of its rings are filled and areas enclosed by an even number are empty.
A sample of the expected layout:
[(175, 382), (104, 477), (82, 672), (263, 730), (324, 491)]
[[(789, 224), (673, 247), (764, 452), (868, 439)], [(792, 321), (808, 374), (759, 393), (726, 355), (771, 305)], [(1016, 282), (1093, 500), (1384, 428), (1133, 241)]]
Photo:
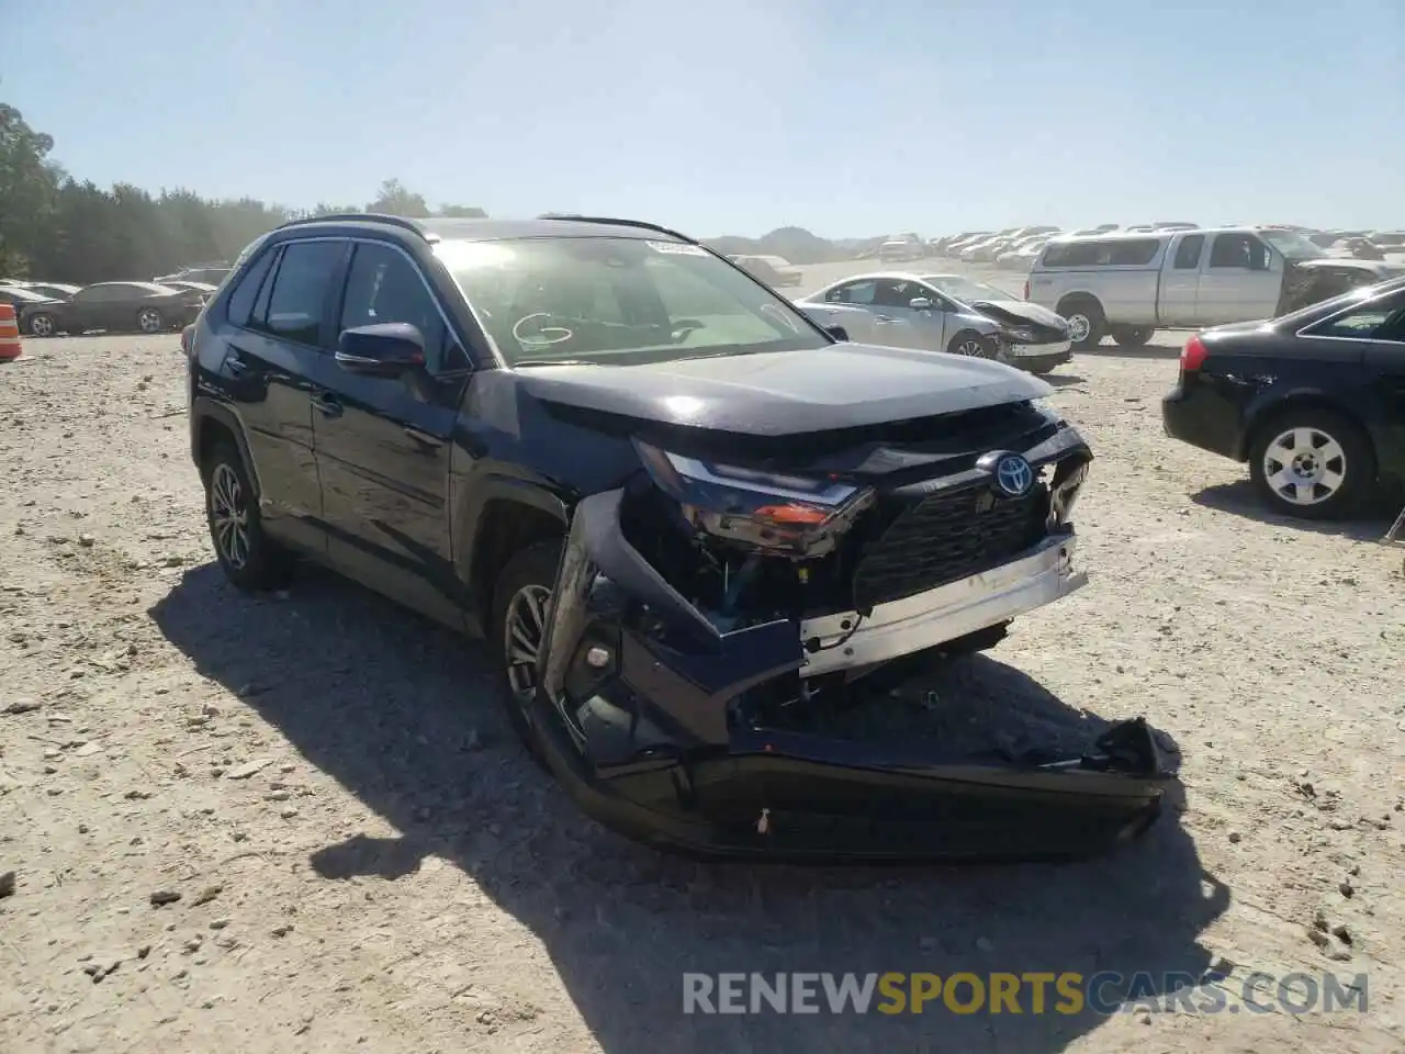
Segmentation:
[(693, 239), (586, 216), (289, 223), (183, 343), (225, 573), (312, 558), (485, 635), (527, 749), (607, 825), (989, 859), (1156, 816), (1139, 720), (971, 757), (825, 718), (1083, 585), (1092, 454), (1043, 381), (849, 343)]

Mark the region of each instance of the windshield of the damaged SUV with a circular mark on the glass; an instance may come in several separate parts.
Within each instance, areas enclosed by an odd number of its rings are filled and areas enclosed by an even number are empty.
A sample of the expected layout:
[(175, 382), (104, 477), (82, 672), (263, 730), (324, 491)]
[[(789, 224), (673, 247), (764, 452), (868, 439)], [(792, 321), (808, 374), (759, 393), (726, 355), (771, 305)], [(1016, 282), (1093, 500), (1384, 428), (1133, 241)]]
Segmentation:
[(830, 341), (700, 246), (638, 238), (441, 242), (434, 253), (511, 365), (662, 363)]

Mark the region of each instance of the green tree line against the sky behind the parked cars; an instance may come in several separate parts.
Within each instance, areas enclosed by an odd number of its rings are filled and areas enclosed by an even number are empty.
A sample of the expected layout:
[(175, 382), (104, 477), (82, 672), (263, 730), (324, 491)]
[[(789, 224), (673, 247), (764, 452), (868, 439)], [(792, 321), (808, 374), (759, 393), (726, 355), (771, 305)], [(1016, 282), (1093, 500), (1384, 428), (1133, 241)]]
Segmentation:
[(303, 209), (256, 198), (202, 198), (190, 190), (150, 194), (126, 183), (104, 188), (70, 176), (51, 159), (52, 150), (52, 136), (0, 103), (0, 278), (146, 281), (192, 263), (233, 260), (280, 223), (333, 212), (486, 215), (466, 205), (431, 209), (393, 178), (364, 205)]

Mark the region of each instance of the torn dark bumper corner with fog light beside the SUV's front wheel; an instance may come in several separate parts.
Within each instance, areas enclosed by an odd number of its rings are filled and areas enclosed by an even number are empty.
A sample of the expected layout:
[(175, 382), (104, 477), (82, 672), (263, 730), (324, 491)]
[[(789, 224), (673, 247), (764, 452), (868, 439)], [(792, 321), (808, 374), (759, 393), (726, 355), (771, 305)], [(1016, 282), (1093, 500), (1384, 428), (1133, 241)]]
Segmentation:
[(538, 659), (540, 710), (597, 762), (724, 746), (731, 701), (801, 668), (799, 627), (719, 631), (629, 544), (622, 500), (622, 490), (593, 495), (572, 516)]

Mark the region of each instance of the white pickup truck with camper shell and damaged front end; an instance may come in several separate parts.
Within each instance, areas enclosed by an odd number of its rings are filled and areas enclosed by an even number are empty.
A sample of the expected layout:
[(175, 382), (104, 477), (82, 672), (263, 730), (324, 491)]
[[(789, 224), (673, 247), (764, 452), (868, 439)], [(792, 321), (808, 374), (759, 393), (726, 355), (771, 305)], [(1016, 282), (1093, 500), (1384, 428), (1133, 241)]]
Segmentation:
[(1075, 350), (1111, 336), (1141, 347), (1158, 329), (1249, 322), (1315, 304), (1398, 268), (1343, 260), (1283, 228), (1207, 228), (1055, 238), (1024, 299), (1069, 323)]

